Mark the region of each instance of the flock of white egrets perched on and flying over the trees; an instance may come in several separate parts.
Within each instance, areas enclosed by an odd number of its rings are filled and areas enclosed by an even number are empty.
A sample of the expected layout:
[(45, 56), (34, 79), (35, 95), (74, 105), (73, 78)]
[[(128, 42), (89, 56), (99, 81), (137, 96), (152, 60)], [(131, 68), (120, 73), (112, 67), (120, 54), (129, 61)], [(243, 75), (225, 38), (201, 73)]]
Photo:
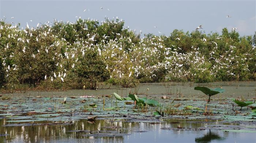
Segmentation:
[[(102, 9), (102, 8), (101, 8)], [(86, 11), (86, 9), (84, 10)], [(230, 18), (231, 16), (227, 16)], [(14, 18), (14, 17), (11, 17)], [(54, 19), (55, 21), (55, 19)], [(78, 22), (78, 21), (76, 21)], [(66, 25), (73, 25), (75, 24), (71, 22), (67, 22)], [(102, 21), (101, 24), (109, 24), (106, 21)], [(40, 24), (37, 24), (36, 28), (40, 28)], [(44, 31), (36, 37), (36, 41), (40, 41), (44, 39), (46, 36), (57, 37), (60, 35), (52, 35), (52, 25), (49, 21), (47, 21), (41, 27), (48, 27), (48, 31)], [(30, 27), (27, 23), (25, 29), (17, 28), (17, 25), (12, 25), (7, 27), (6, 25), (1, 25), (0, 29), (10, 30), (12, 32), (8, 35), (9, 39), (16, 39), (22, 43), (29, 43), (29, 39), (22, 39), (19, 37), (20, 35), (24, 34), (33, 37), (32, 31), (35, 31), (34, 27)], [(63, 27), (64, 28), (64, 27)], [(88, 25), (83, 25), (83, 30), (88, 30)], [(157, 28), (157, 27), (155, 27)], [(203, 29), (202, 25), (196, 28), (196, 30)], [(237, 28), (232, 28), (236, 30)], [(75, 29), (74, 29), (75, 31)], [(161, 32), (159, 32), (161, 33)], [(108, 35), (103, 35), (103, 40), (100, 44), (94, 44), (95, 36), (98, 36), (98, 33), (90, 33), (87, 35), (87, 39), (79, 38), (78, 35), (75, 43), (68, 43), (65, 40), (65, 37), (61, 37), (62, 41), (56, 41), (53, 44), (57, 46), (64, 46), (67, 47), (65, 50), (65, 56), (61, 53), (55, 53), (57, 57), (61, 59), (69, 59), (72, 61), (72, 68), (75, 68), (76, 62), (78, 61), (78, 55), (84, 55), (87, 49), (95, 49), (98, 51), (100, 56), (105, 58), (105, 62), (107, 63), (106, 69), (109, 69), (111, 72), (112, 78), (122, 78), (123, 76), (137, 78), (140, 74), (146, 74), (149, 78), (158, 78), (155, 73), (159, 69), (166, 69), (167, 74), (165, 79), (170, 80), (172, 77), (177, 78), (188, 78), (191, 76), (195, 76), (196, 74), (200, 74), (200, 72), (210, 71), (209, 74), (215, 76), (218, 70), (226, 68), (227, 72), (226, 75), (229, 76), (236, 76), (234, 72), (232, 72), (236, 68), (243, 67), (243, 70), (248, 71), (248, 65), (246, 61), (251, 60), (250, 55), (255, 54), (255, 47), (251, 47), (248, 49), (248, 53), (244, 53), (243, 57), (233, 56), (233, 52), (236, 51), (236, 47), (233, 45), (229, 45), (229, 50), (225, 52), (223, 55), (215, 56), (216, 49), (218, 49), (218, 41), (222, 40), (222, 37), (217, 37), (215, 41), (208, 41), (207, 39), (201, 39), (203, 42), (214, 45), (214, 48), (208, 53), (210, 58), (205, 58), (205, 55), (200, 53), (200, 48), (204, 47), (191, 47), (191, 52), (182, 53), (180, 52), (182, 47), (177, 47), (176, 45), (172, 45), (172, 47), (166, 47), (163, 44), (163, 39), (161, 36), (154, 36), (152, 38), (140, 38), (139, 44), (132, 43), (131, 37), (123, 37), (120, 36), (120, 33), (114, 33), (119, 36), (119, 38), (113, 40), (107, 40)], [(1, 38), (1, 33), (0, 33)], [(96, 39), (97, 40), (97, 39)], [(176, 40), (181, 40), (181, 37), (177, 37)], [(124, 42), (126, 41), (131, 44), (129, 47), (128, 52), (124, 50)], [(8, 49), (9, 44), (5, 45), (5, 49)], [(52, 50), (53, 45), (48, 45), (47, 47), (41, 47), (38, 49), (39, 52), (46, 52), (48, 53)], [(26, 53), (26, 49), (29, 47), (24, 47), (20, 53)], [(14, 56), (12, 54), (11, 56)], [(5, 66), (6, 72), (10, 70), (16, 70), (19, 65), (7, 65), (5, 63), (5, 55), (3, 57), (3, 65)], [(36, 57), (37, 53), (33, 53), (32, 57)], [(158, 58), (163, 57), (161, 63), (156, 62)], [(65, 60), (62, 60), (65, 62)], [(212, 67), (209, 68), (202, 68), (207, 67), (203, 66), (208, 63), (212, 63)], [(241, 62), (239, 62), (241, 61)], [(66, 70), (67, 67), (63, 66), (64, 63), (57, 63), (59, 66), (59, 71), (52, 71), (51, 74), (45, 75), (43, 79), (47, 80), (50, 78), (51, 81), (59, 78), (62, 82), (65, 81), (65, 78), (68, 76), (68, 71)], [(58, 73), (58, 76), (56, 75)], [(8, 74), (7, 74), (8, 76)]]

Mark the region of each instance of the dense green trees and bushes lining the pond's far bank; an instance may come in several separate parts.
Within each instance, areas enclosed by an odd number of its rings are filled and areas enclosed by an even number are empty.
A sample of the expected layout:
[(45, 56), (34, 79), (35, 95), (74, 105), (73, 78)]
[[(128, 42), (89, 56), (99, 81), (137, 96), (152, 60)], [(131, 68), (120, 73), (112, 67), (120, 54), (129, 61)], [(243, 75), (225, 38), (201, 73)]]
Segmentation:
[(95, 89), (104, 81), (135, 87), (139, 82), (256, 79), (256, 33), (175, 29), (170, 36), (144, 36), (118, 19), (55, 21), (26, 29), (1, 21), (0, 86)]

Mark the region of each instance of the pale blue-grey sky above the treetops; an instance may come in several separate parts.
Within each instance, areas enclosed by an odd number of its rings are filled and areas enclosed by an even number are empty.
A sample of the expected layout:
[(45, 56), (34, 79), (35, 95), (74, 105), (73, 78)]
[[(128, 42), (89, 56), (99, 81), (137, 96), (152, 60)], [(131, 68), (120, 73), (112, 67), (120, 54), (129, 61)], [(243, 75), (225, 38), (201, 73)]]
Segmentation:
[(206, 34), (236, 27), (244, 36), (256, 31), (256, 0), (0, 0), (0, 18), (24, 28), (53, 19), (74, 22), (76, 16), (99, 22), (118, 17), (142, 35), (169, 36), (174, 29), (192, 32), (202, 25)]

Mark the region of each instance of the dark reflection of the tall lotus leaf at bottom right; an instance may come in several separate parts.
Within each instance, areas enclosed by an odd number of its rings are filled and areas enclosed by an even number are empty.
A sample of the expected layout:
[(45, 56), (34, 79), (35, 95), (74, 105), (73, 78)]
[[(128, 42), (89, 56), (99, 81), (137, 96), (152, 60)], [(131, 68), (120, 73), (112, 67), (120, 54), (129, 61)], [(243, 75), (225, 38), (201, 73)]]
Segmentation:
[(195, 138), (196, 143), (210, 143), (211, 140), (221, 141), (221, 140), (224, 140), (224, 138), (222, 138), (221, 136), (219, 136), (214, 132), (211, 132), (211, 130), (207, 134), (203, 135), (202, 137)]

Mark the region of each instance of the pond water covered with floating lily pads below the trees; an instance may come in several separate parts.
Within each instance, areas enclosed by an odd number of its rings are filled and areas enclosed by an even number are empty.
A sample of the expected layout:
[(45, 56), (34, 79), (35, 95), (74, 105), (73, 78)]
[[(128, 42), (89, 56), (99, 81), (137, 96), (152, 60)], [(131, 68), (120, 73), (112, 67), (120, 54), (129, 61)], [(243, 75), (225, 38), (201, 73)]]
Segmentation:
[[(211, 97), (208, 110), (211, 110), (214, 116), (204, 116), (203, 111), (193, 112), (190, 116), (153, 116), (155, 110), (164, 109), (170, 104), (181, 103), (177, 108), (179, 110), (187, 105), (204, 109), (207, 97), (202, 92), (195, 91), (194, 87), (198, 84), (193, 83), (141, 84), (137, 88), (104, 85), (104, 88), (99, 90), (26, 91), (2, 94), (1, 98), (10, 99), (0, 100), (0, 143), (255, 143), (256, 122), (255, 118), (249, 116), (251, 109), (244, 107), (237, 114), (232, 110), (231, 98), (255, 98), (256, 82), (219, 82), (203, 85), (211, 88), (222, 86), (226, 90)], [(148, 107), (147, 113), (133, 112), (134, 105), (125, 105), (125, 101), (117, 102), (113, 98), (105, 98), (105, 108), (113, 106), (115, 109), (103, 111), (102, 95), (110, 95), (113, 92), (123, 96), (129, 92), (137, 92), (140, 97), (145, 96), (147, 92), (148, 97), (157, 100), (162, 107)], [(37, 98), (38, 95), (42, 97)], [(80, 97), (83, 95), (93, 97)], [(163, 95), (170, 99), (161, 99)], [(63, 104), (65, 96), (76, 98), (67, 98), (67, 103)], [(86, 102), (81, 103), (84, 99)], [(98, 107), (90, 108), (91, 103), (96, 103)], [(236, 106), (233, 108), (237, 111), (240, 109)], [(30, 111), (35, 114), (30, 114)], [(90, 112), (98, 116), (95, 122), (88, 122)]]

